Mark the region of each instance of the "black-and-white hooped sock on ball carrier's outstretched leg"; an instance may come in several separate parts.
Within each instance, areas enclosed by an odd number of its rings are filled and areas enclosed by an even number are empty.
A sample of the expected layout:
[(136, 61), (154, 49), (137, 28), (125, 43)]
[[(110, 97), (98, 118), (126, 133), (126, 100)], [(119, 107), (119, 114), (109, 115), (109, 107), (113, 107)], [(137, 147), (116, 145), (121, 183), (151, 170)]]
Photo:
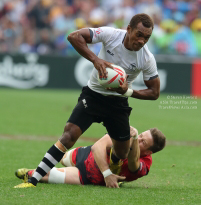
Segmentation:
[(44, 177), (60, 160), (65, 153), (53, 145), (45, 154), (44, 158), (38, 165), (33, 176), (28, 180), (36, 186), (36, 184)]

